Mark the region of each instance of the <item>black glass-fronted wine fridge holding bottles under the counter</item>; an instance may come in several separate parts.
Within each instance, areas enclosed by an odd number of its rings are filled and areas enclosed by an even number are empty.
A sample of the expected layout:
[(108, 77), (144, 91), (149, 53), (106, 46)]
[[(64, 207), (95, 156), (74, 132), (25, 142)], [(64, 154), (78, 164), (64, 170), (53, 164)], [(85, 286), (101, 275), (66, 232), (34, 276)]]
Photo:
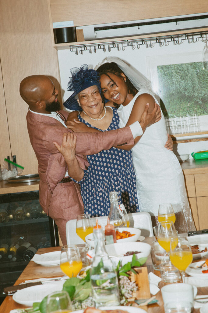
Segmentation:
[(58, 228), (39, 203), (39, 192), (0, 195), (0, 304), (37, 249), (59, 246)]

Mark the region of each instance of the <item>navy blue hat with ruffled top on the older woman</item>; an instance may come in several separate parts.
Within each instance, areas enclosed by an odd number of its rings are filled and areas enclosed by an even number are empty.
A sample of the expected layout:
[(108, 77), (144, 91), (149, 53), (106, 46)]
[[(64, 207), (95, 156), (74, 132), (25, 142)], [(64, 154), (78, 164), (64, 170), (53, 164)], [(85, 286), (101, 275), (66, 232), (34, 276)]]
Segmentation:
[(82, 108), (78, 104), (77, 100), (74, 98), (80, 91), (85, 90), (91, 86), (98, 86), (99, 93), (102, 95), (99, 75), (94, 69), (88, 69), (87, 64), (81, 65), (80, 69), (78, 67), (73, 67), (70, 69), (71, 76), (68, 82), (68, 91), (74, 91), (73, 94), (64, 102), (64, 106), (69, 110), (81, 111)]

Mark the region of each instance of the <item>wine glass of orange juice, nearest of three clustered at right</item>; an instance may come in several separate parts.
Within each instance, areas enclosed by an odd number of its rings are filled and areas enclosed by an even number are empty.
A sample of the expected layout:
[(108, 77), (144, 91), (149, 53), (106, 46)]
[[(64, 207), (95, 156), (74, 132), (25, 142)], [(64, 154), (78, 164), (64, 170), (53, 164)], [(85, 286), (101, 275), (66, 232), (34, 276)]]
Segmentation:
[(182, 281), (185, 283), (185, 270), (193, 260), (190, 244), (185, 237), (178, 238), (177, 244), (171, 239), (170, 260), (181, 272)]

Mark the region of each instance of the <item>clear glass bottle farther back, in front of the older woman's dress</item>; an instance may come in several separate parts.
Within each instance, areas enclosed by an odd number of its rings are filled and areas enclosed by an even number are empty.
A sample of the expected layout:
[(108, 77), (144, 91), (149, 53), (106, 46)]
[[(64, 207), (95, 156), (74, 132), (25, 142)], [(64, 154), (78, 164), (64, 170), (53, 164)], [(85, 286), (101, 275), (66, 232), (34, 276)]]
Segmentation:
[(109, 194), (110, 197), (110, 212), (109, 212), (109, 220), (110, 223), (114, 226), (120, 226), (124, 223), (125, 227), (125, 220), (122, 215), (122, 211), (119, 209), (119, 203), (118, 203), (118, 195), (116, 191), (111, 191)]

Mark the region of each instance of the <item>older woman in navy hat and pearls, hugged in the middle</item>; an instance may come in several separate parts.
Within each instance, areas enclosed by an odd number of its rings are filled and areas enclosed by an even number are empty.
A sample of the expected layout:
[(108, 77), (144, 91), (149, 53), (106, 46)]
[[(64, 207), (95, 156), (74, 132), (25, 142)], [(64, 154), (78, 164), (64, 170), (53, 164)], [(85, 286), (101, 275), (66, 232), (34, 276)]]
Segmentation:
[[(119, 128), (117, 110), (104, 106), (97, 72), (82, 66), (80, 70), (71, 69), (71, 73), (68, 90), (74, 90), (74, 94), (67, 103), (71, 105), (79, 103), (80, 123), (84, 124), (87, 131), (108, 131)], [(131, 151), (112, 147), (88, 155), (87, 159), (90, 164), (88, 170), (84, 171), (84, 177), (80, 181), (75, 181), (81, 187), (85, 213), (91, 216), (108, 215), (110, 191), (117, 192), (119, 202), (124, 204), (128, 213), (139, 212)]]

